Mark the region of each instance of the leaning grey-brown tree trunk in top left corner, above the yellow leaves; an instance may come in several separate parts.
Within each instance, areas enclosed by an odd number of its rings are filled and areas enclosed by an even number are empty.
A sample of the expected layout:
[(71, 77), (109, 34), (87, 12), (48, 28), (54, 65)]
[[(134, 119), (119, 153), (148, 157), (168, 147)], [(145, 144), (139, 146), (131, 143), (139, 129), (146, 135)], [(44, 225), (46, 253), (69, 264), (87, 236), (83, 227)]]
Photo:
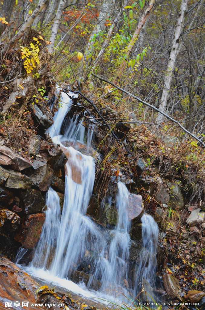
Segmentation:
[(9, 47), (12, 47), (18, 40), (19, 38), (26, 32), (26, 30), (30, 27), (30, 25), (33, 23), (35, 18), (38, 16), (38, 14), (42, 11), (42, 9), (45, 7), (46, 2), (48, 0), (41, 0), (38, 2), (37, 7), (31, 14), (31, 16), (28, 18), (28, 20), (24, 21), (24, 24), (20, 27), (19, 31), (17, 34), (9, 41), (9, 43), (2, 49), (2, 54), (6, 53), (7, 49)]

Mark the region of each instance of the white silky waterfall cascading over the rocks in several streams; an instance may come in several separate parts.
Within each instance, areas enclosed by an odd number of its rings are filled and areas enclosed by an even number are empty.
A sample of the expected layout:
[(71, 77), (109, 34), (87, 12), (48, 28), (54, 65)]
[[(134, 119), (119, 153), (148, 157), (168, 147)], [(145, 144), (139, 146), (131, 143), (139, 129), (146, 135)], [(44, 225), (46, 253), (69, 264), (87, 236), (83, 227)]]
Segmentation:
[[(73, 94), (69, 93), (69, 96)], [(72, 104), (72, 100), (65, 93), (62, 93), (61, 98), (61, 106), (55, 113), (54, 123), (48, 129), (48, 133), (54, 143), (60, 144), (68, 157), (65, 166), (63, 210), (61, 212), (57, 193), (50, 188), (46, 199), (46, 220), (28, 268), (38, 275), (46, 269), (56, 281), (57, 277), (72, 278), (73, 272), (79, 270), (82, 262), (86, 261), (86, 272), (89, 274), (87, 288), (94, 288), (97, 280), (101, 283), (101, 288), (95, 289), (102, 293), (115, 295), (108, 290), (115, 293), (117, 290), (128, 295), (123, 286), (128, 287), (130, 283), (129, 192), (123, 183), (117, 183), (115, 206), (118, 216), (114, 229), (105, 229), (86, 216), (94, 186), (95, 165), (93, 157), (80, 153), (75, 149), (75, 145), (79, 142), (84, 143), (87, 150), (89, 149), (94, 125), (91, 125), (86, 133), (82, 125), (83, 119), (80, 121), (76, 117), (75, 120), (69, 120), (64, 127), (64, 134), (60, 135), (64, 117)], [(65, 142), (72, 146), (66, 147)], [(133, 294), (138, 292), (138, 283), (142, 278), (150, 284), (154, 281), (152, 275), (156, 265), (157, 237), (157, 224), (150, 215), (143, 215), (140, 263), (135, 271), (134, 290), (130, 290)], [(20, 251), (19, 258), (23, 254), (24, 250)], [(122, 300), (122, 295), (120, 298)]]

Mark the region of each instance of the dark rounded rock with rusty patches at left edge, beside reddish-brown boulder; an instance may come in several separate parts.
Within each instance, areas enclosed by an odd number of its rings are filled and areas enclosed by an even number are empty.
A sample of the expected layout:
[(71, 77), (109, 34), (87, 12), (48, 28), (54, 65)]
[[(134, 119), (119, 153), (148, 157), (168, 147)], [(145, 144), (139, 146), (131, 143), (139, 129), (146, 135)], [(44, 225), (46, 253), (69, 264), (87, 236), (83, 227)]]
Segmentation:
[(20, 224), (20, 217), (8, 209), (0, 209), (0, 228), (15, 231)]

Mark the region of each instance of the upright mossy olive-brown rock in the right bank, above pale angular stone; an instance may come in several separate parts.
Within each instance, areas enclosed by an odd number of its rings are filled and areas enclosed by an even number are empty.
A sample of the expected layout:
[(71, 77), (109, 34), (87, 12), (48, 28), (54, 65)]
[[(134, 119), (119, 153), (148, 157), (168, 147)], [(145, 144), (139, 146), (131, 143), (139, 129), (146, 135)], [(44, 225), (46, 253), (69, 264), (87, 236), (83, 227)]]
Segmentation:
[(173, 210), (175, 210), (176, 208), (180, 210), (183, 209), (184, 201), (178, 184), (175, 182), (167, 182), (167, 185), (169, 188), (169, 195), (170, 195), (169, 200), (170, 207)]

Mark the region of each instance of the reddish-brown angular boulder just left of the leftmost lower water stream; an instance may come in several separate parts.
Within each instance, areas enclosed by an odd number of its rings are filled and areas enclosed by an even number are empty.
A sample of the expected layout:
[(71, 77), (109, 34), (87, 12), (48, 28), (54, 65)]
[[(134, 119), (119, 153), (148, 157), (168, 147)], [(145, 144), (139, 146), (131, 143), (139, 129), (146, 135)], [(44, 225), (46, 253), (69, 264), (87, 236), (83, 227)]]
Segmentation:
[(33, 249), (40, 238), (45, 218), (45, 213), (24, 216), (14, 239), (20, 242), (23, 248)]

